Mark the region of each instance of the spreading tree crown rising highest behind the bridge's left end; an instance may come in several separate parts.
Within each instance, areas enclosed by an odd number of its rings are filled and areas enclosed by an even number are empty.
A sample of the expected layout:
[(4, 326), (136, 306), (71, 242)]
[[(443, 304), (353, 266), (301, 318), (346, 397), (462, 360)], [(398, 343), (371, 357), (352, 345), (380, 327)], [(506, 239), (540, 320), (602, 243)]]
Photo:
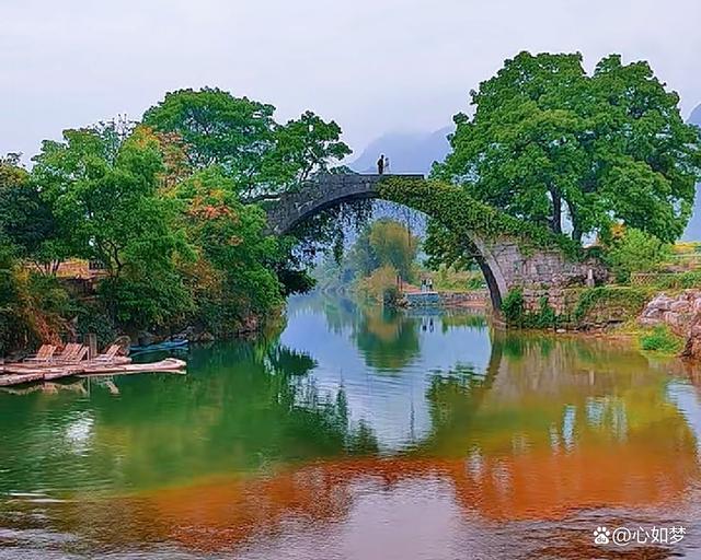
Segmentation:
[(220, 167), (248, 198), (276, 196), (350, 153), (335, 122), (306, 112), (278, 125), (274, 113), (273, 105), (205, 88), (168, 93), (143, 122), (176, 135), (193, 168)]

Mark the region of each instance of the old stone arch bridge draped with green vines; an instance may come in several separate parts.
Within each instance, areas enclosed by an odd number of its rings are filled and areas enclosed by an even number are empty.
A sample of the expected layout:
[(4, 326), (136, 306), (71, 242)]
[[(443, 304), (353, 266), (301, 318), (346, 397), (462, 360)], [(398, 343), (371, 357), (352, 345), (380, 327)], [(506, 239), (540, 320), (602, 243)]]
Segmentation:
[(363, 199), (405, 205), (464, 238), (473, 249), (496, 311), (510, 290), (520, 289), (528, 310), (537, 311), (544, 296), (555, 312), (562, 313), (565, 288), (606, 278), (604, 267), (593, 259), (583, 260), (565, 237), (507, 217), (459, 187), (429, 182), (423, 175), (322, 175), (272, 203), (268, 228), (284, 235), (313, 214)]

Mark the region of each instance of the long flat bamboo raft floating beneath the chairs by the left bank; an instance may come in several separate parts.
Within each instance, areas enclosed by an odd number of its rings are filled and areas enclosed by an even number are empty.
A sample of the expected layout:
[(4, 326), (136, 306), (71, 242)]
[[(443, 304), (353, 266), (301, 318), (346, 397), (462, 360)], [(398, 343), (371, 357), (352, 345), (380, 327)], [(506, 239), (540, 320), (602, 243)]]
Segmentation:
[(51, 365), (25, 362), (0, 365), (0, 387), (22, 385), (62, 377), (92, 377), (99, 375), (122, 375), (134, 373), (185, 373), (187, 364), (183, 360), (166, 358), (160, 362), (131, 363), (129, 358), (118, 358), (110, 362), (83, 361), (79, 363)]

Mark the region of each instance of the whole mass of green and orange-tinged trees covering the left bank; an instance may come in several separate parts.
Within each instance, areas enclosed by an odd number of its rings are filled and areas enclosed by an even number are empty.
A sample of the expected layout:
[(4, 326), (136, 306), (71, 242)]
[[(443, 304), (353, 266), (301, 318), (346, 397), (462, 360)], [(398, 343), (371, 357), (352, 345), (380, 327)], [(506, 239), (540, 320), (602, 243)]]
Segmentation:
[[(0, 159), (2, 334), (20, 336), (18, 317), (36, 311), (44, 323), (25, 330), (43, 339), (60, 330), (47, 327), (54, 316), (74, 317), (80, 331), (102, 318), (104, 336), (187, 324), (227, 335), (309, 290), (297, 241), (269, 236), (263, 209), (245, 201), (333, 171), (349, 149), (333, 121), (306, 112), (278, 125), (274, 112), (217, 89), (182, 90), (143, 124), (100, 122), (45, 141), (31, 172), (16, 155)], [(67, 258), (102, 264), (96, 299), (22, 267), (55, 273)]]

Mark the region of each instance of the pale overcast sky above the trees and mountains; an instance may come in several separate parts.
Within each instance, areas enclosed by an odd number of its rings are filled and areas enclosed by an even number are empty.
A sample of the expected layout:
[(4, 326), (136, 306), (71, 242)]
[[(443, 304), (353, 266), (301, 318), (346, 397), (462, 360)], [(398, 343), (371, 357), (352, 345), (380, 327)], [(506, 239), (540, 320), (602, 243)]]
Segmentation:
[(359, 153), (449, 124), (524, 49), (647, 59), (701, 103), (701, 0), (0, 0), (0, 153), (204, 85), (333, 118)]

